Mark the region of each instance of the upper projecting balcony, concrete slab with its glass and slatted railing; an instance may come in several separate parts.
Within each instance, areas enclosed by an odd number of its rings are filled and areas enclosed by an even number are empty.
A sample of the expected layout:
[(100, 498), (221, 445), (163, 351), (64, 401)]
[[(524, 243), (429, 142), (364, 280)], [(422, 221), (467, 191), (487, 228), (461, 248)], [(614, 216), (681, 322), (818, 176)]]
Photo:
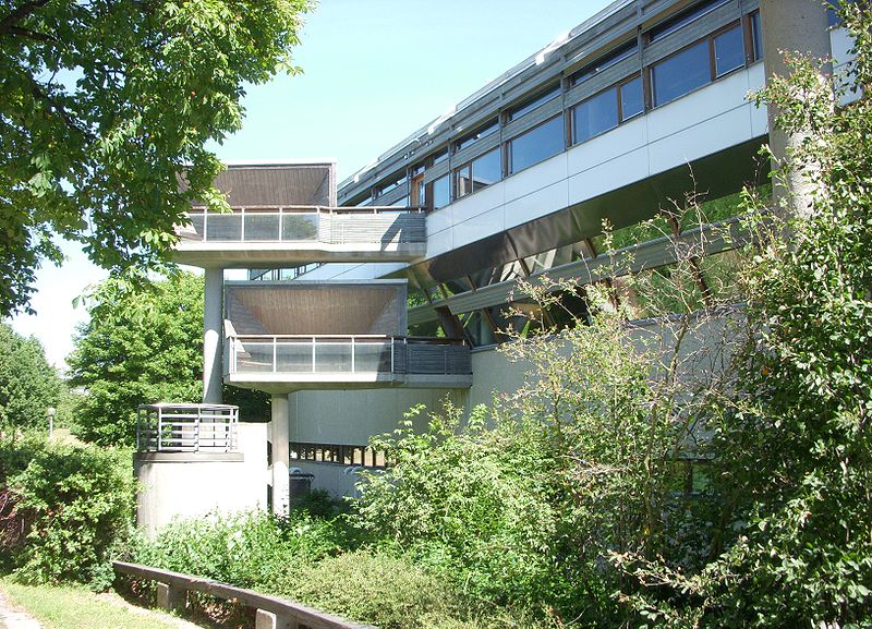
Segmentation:
[(426, 252), (420, 208), (257, 206), (193, 208), (177, 227), (174, 259), (193, 266), (263, 268), (313, 262), (408, 262)]

